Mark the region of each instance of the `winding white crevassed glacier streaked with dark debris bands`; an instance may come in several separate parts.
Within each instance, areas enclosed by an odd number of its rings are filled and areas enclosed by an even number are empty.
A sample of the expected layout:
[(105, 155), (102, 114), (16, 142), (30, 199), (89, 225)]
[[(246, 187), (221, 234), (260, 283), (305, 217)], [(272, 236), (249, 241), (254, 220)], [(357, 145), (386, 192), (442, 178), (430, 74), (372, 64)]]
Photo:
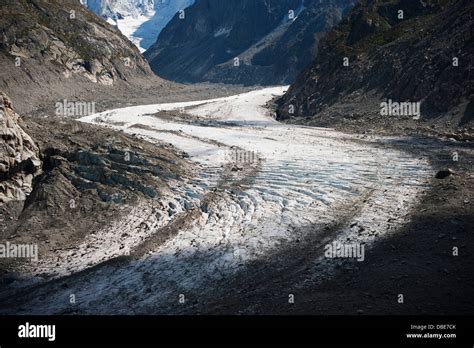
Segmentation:
[[(76, 249), (28, 264), (15, 286), (34, 282), (35, 293), (14, 313), (72, 313), (69, 297), (75, 294), (74, 314), (180, 314), (178, 294), (223, 294), (253, 263), (273, 262), (297, 243), (306, 241), (308, 249), (364, 246), (370, 253), (396, 235), (429, 187), (429, 160), (392, 147), (401, 140), (396, 137), (279, 123), (267, 105), (287, 89), (128, 106), (81, 118), (175, 146), (188, 154), (195, 175), (170, 181), (170, 195), (141, 201)], [(186, 118), (157, 114), (166, 110)], [(258, 159), (229, 156), (236, 149), (258, 153)], [(170, 203), (175, 214), (167, 212)], [(356, 226), (367, 229), (361, 233)], [(163, 229), (175, 232), (149, 244)], [(310, 255), (304, 286), (330, 279), (347, 265), (323, 252)], [(281, 259), (282, 271), (288, 262)], [(67, 287), (51, 281), (61, 278)], [(11, 313), (0, 308), (0, 314)]]

